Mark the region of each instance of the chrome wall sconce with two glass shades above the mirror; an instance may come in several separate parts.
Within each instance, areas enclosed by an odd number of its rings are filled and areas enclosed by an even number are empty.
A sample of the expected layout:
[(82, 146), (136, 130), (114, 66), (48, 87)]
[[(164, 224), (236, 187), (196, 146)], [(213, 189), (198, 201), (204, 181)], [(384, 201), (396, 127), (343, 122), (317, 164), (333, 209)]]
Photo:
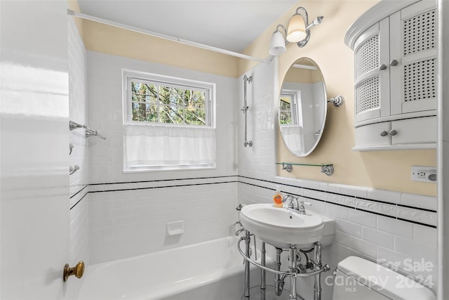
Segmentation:
[[(278, 25), (276, 31), (273, 32), (272, 41), (269, 44), (269, 54), (271, 56), (280, 56), (286, 52), (286, 45), (289, 43), (297, 43), (297, 46), (304, 47), (310, 39), (310, 28), (319, 25), (323, 20), (323, 16), (316, 17), (313, 22), (309, 24), (309, 15), (306, 9), (302, 6), (296, 8), (296, 12), (290, 18), (288, 27)], [(279, 31), (282, 28), (284, 35)]]

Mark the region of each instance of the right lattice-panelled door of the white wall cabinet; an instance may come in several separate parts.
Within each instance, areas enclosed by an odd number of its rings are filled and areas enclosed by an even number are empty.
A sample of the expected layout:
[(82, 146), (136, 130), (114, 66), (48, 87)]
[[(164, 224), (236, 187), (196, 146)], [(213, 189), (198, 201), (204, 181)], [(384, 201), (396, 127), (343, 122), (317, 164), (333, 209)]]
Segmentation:
[(436, 17), (427, 0), (390, 16), (391, 115), (436, 110)]

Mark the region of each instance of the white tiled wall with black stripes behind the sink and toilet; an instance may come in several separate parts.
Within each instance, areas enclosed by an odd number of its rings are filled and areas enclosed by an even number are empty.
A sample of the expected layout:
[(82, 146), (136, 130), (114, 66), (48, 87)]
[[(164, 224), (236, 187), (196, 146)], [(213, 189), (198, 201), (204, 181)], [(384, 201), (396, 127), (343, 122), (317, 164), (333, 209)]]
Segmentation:
[[(260, 64), (248, 74), (253, 75), (252, 122), (248, 136), (253, 147), (239, 143), (239, 199), (243, 203), (272, 202), (279, 185), (284, 193), (301, 196), (311, 202), (311, 210), (336, 220), (335, 241), (323, 249), (335, 268), (347, 256), (356, 255), (370, 261), (398, 263), (398, 271), (427, 280), (436, 290), (436, 198), (387, 190), (354, 187), (318, 181), (276, 176), (276, 119), (273, 118), (274, 86), (277, 86), (272, 65)], [(243, 136), (243, 119), (239, 119), (239, 137)], [(238, 138), (239, 138), (238, 137)], [(413, 267), (415, 266), (415, 267)], [(312, 283), (313, 285), (313, 283)], [(304, 280), (298, 287), (310, 292)], [(330, 299), (331, 289), (323, 287), (323, 299)], [(313, 294), (302, 294), (312, 297)]]

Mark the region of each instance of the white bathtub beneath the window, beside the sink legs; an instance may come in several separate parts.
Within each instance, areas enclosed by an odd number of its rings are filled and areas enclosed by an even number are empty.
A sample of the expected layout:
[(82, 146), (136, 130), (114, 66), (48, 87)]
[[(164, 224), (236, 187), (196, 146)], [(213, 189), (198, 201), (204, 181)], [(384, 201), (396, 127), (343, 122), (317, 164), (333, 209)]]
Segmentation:
[[(244, 292), (244, 266), (237, 241), (237, 237), (224, 237), (88, 266), (77, 299), (239, 300)], [(267, 263), (271, 261), (267, 257)], [(259, 284), (259, 274), (251, 266), (251, 286)]]

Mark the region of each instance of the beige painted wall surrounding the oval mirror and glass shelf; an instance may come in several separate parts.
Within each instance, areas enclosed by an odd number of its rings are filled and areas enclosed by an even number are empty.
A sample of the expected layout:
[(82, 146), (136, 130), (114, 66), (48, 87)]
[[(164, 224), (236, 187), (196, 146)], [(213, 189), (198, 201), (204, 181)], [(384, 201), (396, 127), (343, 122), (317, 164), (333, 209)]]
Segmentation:
[[(436, 166), (436, 150), (352, 151), (354, 146), (354, 53), (344, 45), (347, 28), (377, 1), (298, 1), (245, 51), (263, 57), (268, 52), (269, 39), (278, 23), (288, 24), (297, 6), (304, 6), (310, 18), (324, 15), (321, 25), (311, 30), (311, 39), (304, 48), (289, 44), (279, 57), (279, 89), (288, 67), (300, 57), (309, 57), (321, 67), (328, 98), (344, 96), (342, 107), (328, 104), (328, 117), (321, 142), (308, 157), (294, 157), (283, 145), (278, 132), (278, 162), (332, 163), (333, 176), (320, 173), (318, 167), (293, 167), (293, 172), (278, 169), (280, 176), (358, 185), (384, 190), (396, 190), (422, 195), (436, 195), (436, 184), (410, 180), (411, 166)], [(252, 67), (252, 62), (239, 65), (240, 72)]]

